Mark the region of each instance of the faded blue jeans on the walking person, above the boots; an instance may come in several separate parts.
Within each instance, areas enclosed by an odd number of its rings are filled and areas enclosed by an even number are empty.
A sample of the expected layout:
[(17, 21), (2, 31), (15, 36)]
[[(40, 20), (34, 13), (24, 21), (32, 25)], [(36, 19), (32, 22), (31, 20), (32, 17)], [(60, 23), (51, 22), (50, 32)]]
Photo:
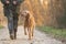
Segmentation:
[(8, 16), (8, 29), (10, 34), (16, 32), (18, 29), (18, 16)]

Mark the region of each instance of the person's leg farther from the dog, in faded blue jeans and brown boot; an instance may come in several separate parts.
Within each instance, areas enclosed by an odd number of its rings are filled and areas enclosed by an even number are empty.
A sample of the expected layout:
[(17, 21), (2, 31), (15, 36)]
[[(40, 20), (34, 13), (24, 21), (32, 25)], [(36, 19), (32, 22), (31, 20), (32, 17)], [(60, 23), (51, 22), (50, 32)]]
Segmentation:
[(14, 40), (13, 18), (12, 16), (8, 18), (8, 29), (9, 29), (9, 33), (10, 33), (10, 38)]

